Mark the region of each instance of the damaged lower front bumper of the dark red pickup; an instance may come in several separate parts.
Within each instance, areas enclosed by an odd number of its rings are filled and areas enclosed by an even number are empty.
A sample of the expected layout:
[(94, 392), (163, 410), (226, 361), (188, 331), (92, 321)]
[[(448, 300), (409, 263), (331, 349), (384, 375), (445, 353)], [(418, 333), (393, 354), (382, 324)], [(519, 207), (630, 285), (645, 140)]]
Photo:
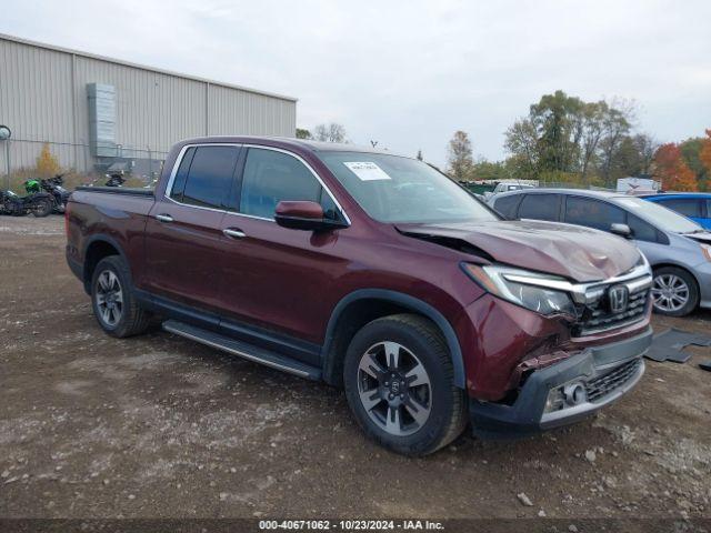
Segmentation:
[(474, 435), (525, 436), (577, 422), (630, 391), (644, 373), (642, 355), (652, 329), (612, 344), (592, 346), (532, 372), (512, 404), (470, 399)]

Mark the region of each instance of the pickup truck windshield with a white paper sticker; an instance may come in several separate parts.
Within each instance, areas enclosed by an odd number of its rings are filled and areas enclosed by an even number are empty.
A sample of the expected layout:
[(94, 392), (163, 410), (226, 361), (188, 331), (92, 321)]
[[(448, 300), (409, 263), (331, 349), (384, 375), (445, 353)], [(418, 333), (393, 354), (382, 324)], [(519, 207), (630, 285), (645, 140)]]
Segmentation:
[(422, 161), (362, 152), (318, 155), (360, 207), (380, 222), (498, 220), (464, 189)]

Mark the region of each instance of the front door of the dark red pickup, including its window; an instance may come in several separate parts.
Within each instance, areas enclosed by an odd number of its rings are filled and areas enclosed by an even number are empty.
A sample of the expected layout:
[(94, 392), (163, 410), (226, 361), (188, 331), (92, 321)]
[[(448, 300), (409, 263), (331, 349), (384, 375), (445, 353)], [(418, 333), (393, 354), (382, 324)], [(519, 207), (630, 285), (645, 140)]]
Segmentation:
[[(240, 192), (222, 221), (222, 230), (231, 234), (220, 289), (223, 326), (239, 330), (247, 323), (320, 342), (320, 319), (329, 304), (319, 295), (338, 271), (337, 242), (348, 230), (281, 228), (274, 209), (281, 200), (311, 200), (332, 219), (344, 221), (344, 215), (301, 158), (266, 147), (246, 150)], [(316, 362), (308, 354), (300, 359)]]

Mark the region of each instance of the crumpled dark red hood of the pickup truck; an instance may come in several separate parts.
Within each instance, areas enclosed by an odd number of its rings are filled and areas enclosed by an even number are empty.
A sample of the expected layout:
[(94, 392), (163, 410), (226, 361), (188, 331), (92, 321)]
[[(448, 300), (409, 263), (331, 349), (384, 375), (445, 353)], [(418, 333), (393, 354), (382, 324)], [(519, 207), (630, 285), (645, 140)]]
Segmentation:
[(577, 282), (622, 274), (640, 260), (637, 247), (619, 237), (557, 222), (398, 224), (397, 229), (405, 235), (482, 259), (562, 275)]

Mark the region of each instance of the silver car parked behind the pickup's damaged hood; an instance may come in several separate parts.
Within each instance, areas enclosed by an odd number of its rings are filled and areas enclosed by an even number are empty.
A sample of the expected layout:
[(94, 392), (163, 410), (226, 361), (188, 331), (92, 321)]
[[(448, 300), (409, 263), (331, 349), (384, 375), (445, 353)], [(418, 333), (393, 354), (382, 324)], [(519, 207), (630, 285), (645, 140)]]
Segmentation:
[(510, 219), (585, 225), (632, 239), (654, 273), (654, 311), (683, 316), (711, 309), (711, 232), (670, 209), (614, 192), (529, 189), (489, 204)]

